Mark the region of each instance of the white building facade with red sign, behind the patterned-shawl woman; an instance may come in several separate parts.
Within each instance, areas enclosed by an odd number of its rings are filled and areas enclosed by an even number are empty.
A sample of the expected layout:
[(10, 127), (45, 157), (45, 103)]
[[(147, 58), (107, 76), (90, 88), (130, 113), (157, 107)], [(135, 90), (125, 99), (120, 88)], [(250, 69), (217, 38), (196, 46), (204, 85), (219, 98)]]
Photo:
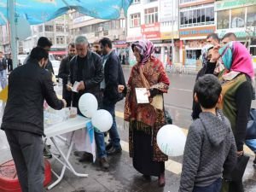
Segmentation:
[[(165, 66), (172, 61), (179, 62), (178, 1), (134, 0), (128, 9), (127, 20), (127, 42), (131, 44), (146, 38), (154, 43), (154, 53)], [(129, 61), (134, 65), (136, 61), (131, 49), (130, 53)]]

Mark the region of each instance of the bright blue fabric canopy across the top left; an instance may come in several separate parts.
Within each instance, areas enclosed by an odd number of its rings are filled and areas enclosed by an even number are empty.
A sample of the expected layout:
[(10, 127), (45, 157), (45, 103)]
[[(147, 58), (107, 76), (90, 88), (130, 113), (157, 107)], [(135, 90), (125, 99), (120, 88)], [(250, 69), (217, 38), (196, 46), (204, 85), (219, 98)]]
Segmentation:
[[(0, 25), (9, 20), (9, 0), (0, 0)], [(44, 23), (75, 9), (91, 17), (114, 20), (121, 9), (125, 15), (132, 0), (15, 0), (15, 14), (25, 17), (31, 25)]]

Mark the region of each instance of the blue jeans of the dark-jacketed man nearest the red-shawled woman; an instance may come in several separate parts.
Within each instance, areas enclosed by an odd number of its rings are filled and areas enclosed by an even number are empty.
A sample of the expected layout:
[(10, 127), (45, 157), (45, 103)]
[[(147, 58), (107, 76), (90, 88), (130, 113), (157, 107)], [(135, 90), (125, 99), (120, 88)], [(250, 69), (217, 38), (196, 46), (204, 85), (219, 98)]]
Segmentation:
[(103, 102), (103, 109), (111, 113), (113, 117), (113, 125), (109, 130), (109, 137), (110, 137), (109, 143), (112, 143), (112, 146), (114, 148), (121, 148), (119, 132), (117, 131), (117, 126), (115, 122), (115, 113), (114, 113), (115, 104), (109, 103), (109, 102)]

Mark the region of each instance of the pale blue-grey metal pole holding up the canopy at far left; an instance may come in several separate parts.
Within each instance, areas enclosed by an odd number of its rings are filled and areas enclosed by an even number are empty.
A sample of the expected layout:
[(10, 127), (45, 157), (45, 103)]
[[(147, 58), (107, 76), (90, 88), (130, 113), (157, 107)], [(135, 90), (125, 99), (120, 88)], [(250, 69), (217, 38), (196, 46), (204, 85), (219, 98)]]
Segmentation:
[(17, 41), (16, 41), (16, 24), (15, 24), (15, 0), (9, 0), (9, 25), (10, 25), (10, 40), (13, 57), (13, 68), (17, 67)]

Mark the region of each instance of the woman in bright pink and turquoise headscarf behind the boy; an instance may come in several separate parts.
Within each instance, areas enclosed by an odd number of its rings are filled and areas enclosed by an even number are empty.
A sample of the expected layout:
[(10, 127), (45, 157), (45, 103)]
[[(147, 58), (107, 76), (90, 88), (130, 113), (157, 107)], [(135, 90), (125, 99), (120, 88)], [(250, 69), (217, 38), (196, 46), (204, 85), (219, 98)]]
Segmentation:
[[(223, 101), (218, 108), (223, 109), (224, 115), (230, 120), (239, 157), (243, 155), (243, 144), (253, 98), (253, 63), (247, 48), (236, 41), (226, 44), (221, 49), (214, 48), (211, 61), (216, 62), (219, 57), (225, 69), (218, 75), (223, 95)], [(242, 181), (224, 183), (223, 187), (226, 188), (222, 191), (243, 191)]]

